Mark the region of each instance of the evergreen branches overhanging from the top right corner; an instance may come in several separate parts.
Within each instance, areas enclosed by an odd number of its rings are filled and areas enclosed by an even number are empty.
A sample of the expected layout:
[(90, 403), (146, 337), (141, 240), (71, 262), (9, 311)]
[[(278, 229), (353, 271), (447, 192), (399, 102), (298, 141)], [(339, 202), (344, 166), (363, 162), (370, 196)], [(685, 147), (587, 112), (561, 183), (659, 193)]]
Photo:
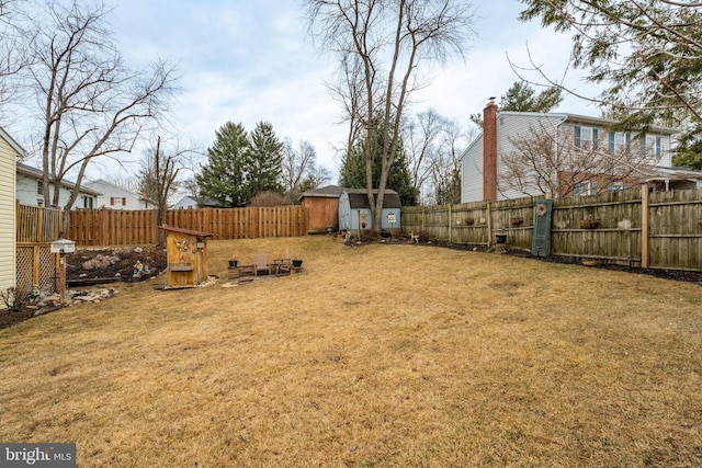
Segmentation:
[(522, 0), (520, 20), (567, 32), (573, 65), (622, 128), (702, 124), (699, 1)]

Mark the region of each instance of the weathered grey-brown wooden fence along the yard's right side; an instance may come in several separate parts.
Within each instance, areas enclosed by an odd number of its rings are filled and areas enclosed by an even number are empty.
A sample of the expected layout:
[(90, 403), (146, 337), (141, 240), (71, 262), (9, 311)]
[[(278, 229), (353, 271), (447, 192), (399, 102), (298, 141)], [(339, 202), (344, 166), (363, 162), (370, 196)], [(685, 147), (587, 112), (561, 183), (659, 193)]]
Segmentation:
[[(510, 246), (531, 249), (537, 199), (404, 207), (403, 231), (477, 246), (495, 243), (501, 232)], [(585, 228), (584, 219), (599, 224)], [(702, 271), (702, 190), (556, 198), (548, 235), (552, 255)]]

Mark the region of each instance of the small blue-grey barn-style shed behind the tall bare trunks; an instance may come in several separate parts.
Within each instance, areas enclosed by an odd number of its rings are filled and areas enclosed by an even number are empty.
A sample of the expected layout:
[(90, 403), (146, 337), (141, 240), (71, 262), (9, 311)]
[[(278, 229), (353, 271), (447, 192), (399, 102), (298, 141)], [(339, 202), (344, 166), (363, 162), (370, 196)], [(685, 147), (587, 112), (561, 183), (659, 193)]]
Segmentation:
[[(377, 194), (377, 190), (373, 191)], [(397, 230), (401, 228), (400, 222), (401, 203), (399, 195), (394, 190), (385, 190), (383, 197), (383, 213), (381, 215), (381, 229)], [(373, 227), (373, 215), (369, 204), (367, 191), (365, 189), (343, 189), (339, 196), (339, 229), (375, 229)]]

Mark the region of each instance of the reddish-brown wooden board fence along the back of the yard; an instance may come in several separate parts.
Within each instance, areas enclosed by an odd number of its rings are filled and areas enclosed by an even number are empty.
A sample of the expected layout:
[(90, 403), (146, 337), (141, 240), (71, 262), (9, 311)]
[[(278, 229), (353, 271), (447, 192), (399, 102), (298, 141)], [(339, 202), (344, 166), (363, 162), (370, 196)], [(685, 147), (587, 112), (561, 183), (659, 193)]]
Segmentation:
[[(79, 246), (157, 243), (156, 218), (155, 209), (71, 212), (66, 237)], [(305, 236), (307, 222), (302, 206), (171, 209), (163, 219), (171, 227), (211, 232), (214, 240)]]

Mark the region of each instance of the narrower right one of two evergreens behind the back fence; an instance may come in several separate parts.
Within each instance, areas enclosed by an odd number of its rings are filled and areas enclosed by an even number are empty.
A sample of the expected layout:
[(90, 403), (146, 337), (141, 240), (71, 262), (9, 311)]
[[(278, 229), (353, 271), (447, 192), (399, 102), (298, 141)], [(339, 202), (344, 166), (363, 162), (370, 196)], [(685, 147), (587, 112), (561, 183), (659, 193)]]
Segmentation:
[(262, 192), (283, 193), (283, 142), (278, 139), (273, 126), (259, 122), (251, 133), (251, 150), (247, 153), (249, 192), (256, 196)]

